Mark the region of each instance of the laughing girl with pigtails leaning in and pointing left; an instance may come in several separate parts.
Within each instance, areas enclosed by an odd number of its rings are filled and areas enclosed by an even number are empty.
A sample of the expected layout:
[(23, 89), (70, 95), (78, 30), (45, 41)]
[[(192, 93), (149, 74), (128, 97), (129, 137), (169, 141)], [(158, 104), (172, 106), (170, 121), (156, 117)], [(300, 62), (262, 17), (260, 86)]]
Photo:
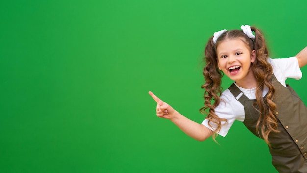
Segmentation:
[[(207, 117), (202, 124), (149, 92), (157, 102), (157, 116), (199, 141), (226, 136), (234, 120), (242, 121), (268, 144), (279, 172), (307, 173), (307, 108), (285, 84), (287, 78), (302, 77), (307, 47), (295, 57), (271, 59), (260, 30), (248, 25), (241, 29), (216, 32), (205, 47), (205, 105), (200, 111)], [(222, 93), (223, 74), (234, 83)]]

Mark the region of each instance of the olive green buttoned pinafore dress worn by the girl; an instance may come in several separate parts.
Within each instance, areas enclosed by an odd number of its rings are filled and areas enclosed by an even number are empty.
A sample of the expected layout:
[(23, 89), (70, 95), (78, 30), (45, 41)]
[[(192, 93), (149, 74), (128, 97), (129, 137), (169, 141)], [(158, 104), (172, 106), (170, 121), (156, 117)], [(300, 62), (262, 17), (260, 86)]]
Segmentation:
[[(272, 164), (280, 173), (307, 173), (307, 108), (289, 85), (288, 88), (284, 87), (274, 75), (272, 82), (275, 86), (273, 101), (277, 106), (275, 116), (280, 131), (271, 132), (268, 137), (272, 145), (269, 148)], [(228, 89), (234, 97), (241, 93), (234, 84)], [(256, 100), (250, 100), (244, 94), (237, 100), (244, 106), (244, 125), (254, 135), (262, 138), (256, 133), (259, 113), (252, 106)]]

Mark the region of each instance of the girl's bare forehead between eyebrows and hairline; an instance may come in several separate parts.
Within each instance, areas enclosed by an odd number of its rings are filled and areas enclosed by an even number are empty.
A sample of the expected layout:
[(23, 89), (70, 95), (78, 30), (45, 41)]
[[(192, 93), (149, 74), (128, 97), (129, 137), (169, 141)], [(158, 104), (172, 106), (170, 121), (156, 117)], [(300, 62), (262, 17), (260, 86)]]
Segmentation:
[(237, 49), (244, 49), (249, 50), (249, 46), (245, 41), (243, 41), (244, 38), (235, 38), (235, 39), (225, 39), (218, 43), (216, 47), (216, 52), (224, 52), (224, 51), (231, 51), (231, 50), (237, 50)]

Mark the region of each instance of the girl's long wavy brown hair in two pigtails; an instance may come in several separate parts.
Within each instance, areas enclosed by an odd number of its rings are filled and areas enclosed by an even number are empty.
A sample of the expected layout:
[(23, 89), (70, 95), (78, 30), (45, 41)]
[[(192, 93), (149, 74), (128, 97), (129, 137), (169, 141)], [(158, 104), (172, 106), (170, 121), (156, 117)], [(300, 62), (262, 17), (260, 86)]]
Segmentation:
[[(255, 33), (254, 41), (251, 40), (247, 35), (243, 33), (242, 30), (230, 30), (224, 32), (216, 41), (213, 43), (213, 37), (211, 37), (205, 47), (205, 67), (203, 69), (203, 75), (205, 78), (205, 84), (201, 87), (205, 89), (204, 99), (205, 106), (200, 109), (200, 112), (207, 114), (207, 119), (209, 120), (209, 126), (213, 127), (210, 122), (217, 125), (212, 135), (215, 140), (217, 134), (221, 130), (221, 123), (227, 120), (218, 117), (215, 114), (215, 108), (220, 104), (220, 95), (222, 93), (221, 79), (224, 73), (218, 69), (216, 48), (218, 45), (226, 39), (241, 39), (250, 51), (256, 51), (255, 62), (251, 64), (251, 69), (253, 75), (256, 78), (256, 102), (253, 107), (259, 112), (260, 117), (256, 124), (256, 132), (262, 137), (265, 142), (270, 146), (268, 141), (268, 136), (270, 132), (278, 132), (277, 130), (277, 119), (274, 116), (274, 111), (276, 108), (273, 102), (275, 88), (272, 84), (273, 68), (270, 63), (268, 63), (268, 49), (263, 34), (259, 29), (251, 27), (252, 31)], [(266, 98), (262, 97), (262, 92), (264, 87), (267, 86), (269, 91)]]

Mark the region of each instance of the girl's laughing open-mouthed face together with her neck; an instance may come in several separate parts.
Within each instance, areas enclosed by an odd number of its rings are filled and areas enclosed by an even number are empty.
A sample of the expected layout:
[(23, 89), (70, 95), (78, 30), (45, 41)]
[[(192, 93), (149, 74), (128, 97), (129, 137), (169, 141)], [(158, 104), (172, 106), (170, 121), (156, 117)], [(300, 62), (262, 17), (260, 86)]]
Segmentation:
[(216, 53), (218, 67), (226, 76), (240, 87), (256, 87), (256, 79), (250, 70), (256, 58), (255, 50), (250, 51), (246, 43), (237, 38), (219, 43)]

